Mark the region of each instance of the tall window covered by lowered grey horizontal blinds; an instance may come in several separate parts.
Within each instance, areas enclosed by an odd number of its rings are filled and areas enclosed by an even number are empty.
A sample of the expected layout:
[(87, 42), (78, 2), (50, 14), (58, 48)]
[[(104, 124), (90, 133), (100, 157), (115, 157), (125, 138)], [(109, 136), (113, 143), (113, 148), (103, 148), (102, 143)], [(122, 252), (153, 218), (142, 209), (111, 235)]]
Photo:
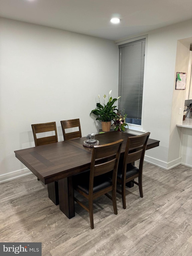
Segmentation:
[(146, 39), (119, 45), (119, 110), (141, 125)]

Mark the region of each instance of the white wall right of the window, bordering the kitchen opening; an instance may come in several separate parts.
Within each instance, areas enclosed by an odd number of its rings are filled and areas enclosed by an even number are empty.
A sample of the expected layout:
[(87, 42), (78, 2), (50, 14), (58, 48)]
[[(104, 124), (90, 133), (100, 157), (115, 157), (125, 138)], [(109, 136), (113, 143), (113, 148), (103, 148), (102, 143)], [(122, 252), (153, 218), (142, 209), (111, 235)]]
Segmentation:
[[(148, 33), (142, 118), (144, 130), (151, 132), (151, 138), (160, 140), (160, 146), (147, 150), (145, 159), (165, 169), (170, 169), (181, 162), (180, 138), (175, 129), (178, 121), (182, 121), (183, 118), (183, 115), (179, 115), (179, 107), (182, 107), (183, 111), (184, 92), (175, 91), (176, 53), (178, 40), (191, 36), (192, 20)], [(181, 56), (181, 59), (185, 59), (182, 63), (184, 70), (180, 65), (177, 72), (186, 72), (186, 57)]]

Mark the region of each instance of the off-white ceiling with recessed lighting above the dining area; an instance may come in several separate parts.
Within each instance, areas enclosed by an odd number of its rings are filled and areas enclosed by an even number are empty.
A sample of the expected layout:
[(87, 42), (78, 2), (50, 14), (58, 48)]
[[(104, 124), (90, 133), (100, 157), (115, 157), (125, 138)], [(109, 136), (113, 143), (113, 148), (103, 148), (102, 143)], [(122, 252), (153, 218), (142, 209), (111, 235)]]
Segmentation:
[(115, 41), (191, 19), (192, 1), (0, 0), (0, 17)]

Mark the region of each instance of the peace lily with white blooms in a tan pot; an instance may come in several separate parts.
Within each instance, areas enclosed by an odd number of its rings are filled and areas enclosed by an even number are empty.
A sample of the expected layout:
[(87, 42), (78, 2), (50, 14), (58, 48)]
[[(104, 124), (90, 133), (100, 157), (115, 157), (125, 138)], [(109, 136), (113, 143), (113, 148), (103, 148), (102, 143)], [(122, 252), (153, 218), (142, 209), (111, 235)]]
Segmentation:
[[(102, 125), (102, 131), (110, 131), (111, 128), (111, 121), (116, 118), (117, 113), (115, 111), (118, 111), (116, 109), (117, 106), (113, 106), (116, 101), (120, 98), (118, 97), (117, 99), (110, 97), (112, 90), (109, 92), (109, 97), (108, 97), (108, 102), (105, 104), (105, 98), (107, 97), (104, 95), (104, 104), (102, 105), (100, 102), (100, 95), (98, 95), (99, 98), (99, 103), (96, 104), (96, 108), (91, 111), (91, 113), (95, 114), (98, 116), (96, 120), (101, 121)], [(90, 113), (90, 115), (91, 115)]]

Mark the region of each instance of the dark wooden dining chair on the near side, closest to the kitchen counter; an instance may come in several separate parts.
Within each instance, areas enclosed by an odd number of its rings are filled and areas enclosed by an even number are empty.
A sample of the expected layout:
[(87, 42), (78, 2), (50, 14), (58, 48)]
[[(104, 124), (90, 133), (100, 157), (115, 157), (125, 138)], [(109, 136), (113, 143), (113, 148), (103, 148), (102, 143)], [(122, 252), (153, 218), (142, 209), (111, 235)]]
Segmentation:
[[(147, 141), (150, 132), (142, 135), (128, 137), (125, 155), (122, 161), (119, 161), (117, 172), (117, 183), (121, 184), (121, 191), (117, 190), (122, 195), (123, 208), (126, 209), (125, 187), (127, 182), (134, 182), (139, 186), (140, 197), (143, 197), (142, 174), (143, 161), (146, 151)], [(134, 162), (139, 161), (139, 168), (134, 165)], [(134, 181), (138, 177), (138, 182)]]

